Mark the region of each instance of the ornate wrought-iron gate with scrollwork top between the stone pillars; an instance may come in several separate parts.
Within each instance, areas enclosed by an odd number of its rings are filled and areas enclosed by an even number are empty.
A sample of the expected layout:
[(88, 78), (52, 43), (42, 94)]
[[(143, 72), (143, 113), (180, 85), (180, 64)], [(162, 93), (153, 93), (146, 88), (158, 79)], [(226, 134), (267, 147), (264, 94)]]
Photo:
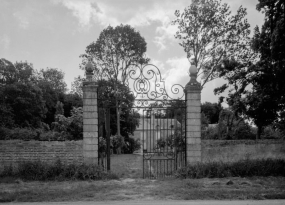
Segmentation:
[[(131, 104), (121, 99), (115, 107), (98, 103), (99, 164), (110, 170), (110, 110), (119, 106), (120, 111), (127, 110), (121, 123), (134, 126), (128, 137), (140, 141), (136, 154), (142, 155), (143, 178), (173, 176), (186, 164), (184, 88), (179, 84), (166, 87), (159, 69), (151, 64), (130, 69), (124, 82), (134, 99)], [(104, 150), (100, 149), (102, 143), (106, 143)]]

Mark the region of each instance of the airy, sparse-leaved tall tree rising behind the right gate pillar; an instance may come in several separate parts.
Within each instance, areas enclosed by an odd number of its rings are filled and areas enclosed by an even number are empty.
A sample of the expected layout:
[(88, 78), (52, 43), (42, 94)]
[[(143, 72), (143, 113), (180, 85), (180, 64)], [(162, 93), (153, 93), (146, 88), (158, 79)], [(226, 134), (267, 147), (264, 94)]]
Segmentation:
[(173, 24), (179, 29), (175, 37), (182, 41), (187, 57), (193, 56), (202, 86), (218, 77), (224, 59), (245, 63), (254, 58), (246, 9), (240, 7), (236, 15), (229, 9), (221, 0), (192, 0), (184, 12), (175, 11)]

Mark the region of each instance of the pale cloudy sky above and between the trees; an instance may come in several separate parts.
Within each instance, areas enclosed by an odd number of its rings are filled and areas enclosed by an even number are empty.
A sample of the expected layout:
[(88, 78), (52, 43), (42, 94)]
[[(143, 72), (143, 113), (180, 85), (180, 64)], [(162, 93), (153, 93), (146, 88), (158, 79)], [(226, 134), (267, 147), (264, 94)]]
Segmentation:
[[(251, 31), (261, 27), (264, 15), (256, 10), (258, 0), (222, 0), (236, 13), (247, 8)], [(184, 10), (190, 0), (0, 0), (0, 58), (13, 63), (27, 61), (34, 69), (58, 68), (65, 73), (68, 88), (78, 75), (81, 54), (107, 26), (129, 24), (147, 42), (147, 56), (170, 87), (190, 80), (190, 63), (171, 24), (175, 10)], [(205, 85), (202, 102), (217, 102), (213, 89), (218, 79)]]

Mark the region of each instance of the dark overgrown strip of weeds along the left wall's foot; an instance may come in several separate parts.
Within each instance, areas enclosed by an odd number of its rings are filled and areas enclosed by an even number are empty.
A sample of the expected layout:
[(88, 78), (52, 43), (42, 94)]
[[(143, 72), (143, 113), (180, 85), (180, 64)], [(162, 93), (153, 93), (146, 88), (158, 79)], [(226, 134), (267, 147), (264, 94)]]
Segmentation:
[(18, 168), (5, 167), (0, 177), (17, 177), (23, 180), (101, 180), (118, 179), (98, 165), (63, 164), (60, 160), (48, 164), (42, 161), (21, 162)]

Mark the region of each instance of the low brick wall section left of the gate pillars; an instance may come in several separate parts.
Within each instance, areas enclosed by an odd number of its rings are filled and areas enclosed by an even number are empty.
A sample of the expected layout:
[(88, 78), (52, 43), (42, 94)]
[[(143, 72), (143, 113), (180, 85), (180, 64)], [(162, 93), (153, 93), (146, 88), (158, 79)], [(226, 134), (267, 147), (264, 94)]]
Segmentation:
[(64, 163), (83, 162), (83, 146), (80, 141), (22, 141), (0, 140), (0, 170), (19, 161), (53, 162), (60, 159)]

